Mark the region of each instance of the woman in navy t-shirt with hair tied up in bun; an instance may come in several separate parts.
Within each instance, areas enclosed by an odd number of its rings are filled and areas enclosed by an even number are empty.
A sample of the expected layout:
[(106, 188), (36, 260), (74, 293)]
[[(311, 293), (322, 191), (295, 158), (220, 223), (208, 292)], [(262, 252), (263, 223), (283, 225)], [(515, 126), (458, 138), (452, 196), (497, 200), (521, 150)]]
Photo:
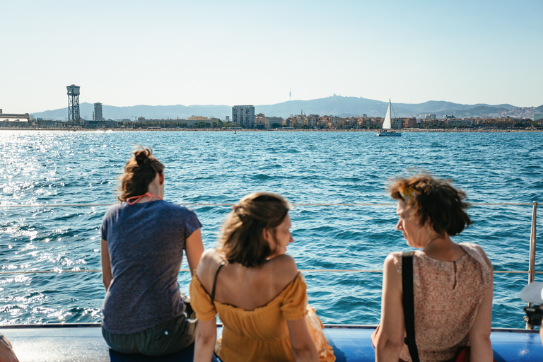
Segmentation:
[(177, 276), (204, 252), (194, 211), (163, 201), (164, 165), (139, 148), (124, 166), (119, 203), (101, 229), (105, 286), (102, 332), (113, 351), (159, 356), (194, 342), (196, 320)]

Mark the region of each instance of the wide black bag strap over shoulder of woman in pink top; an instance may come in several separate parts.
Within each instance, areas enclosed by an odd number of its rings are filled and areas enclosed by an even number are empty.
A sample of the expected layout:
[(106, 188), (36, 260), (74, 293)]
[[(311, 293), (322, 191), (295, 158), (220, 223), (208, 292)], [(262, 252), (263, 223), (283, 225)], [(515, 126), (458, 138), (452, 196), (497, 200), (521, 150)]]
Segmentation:
[(415, 341), (415, 307), (413, 296), (413, 255), (415, 252), (404, 252), (402, 254), (402, 291), (404, 305), (405, 337), (411, 360), (419, 362), (419, 350), (416, 349)]

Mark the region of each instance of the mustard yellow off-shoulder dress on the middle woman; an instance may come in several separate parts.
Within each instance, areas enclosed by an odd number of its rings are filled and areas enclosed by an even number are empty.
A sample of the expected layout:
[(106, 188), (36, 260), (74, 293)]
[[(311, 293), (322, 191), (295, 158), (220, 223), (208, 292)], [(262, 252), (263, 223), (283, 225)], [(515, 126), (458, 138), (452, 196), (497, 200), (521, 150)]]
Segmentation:
[(217, 341), (215, 353), (223, 362), (294, 361), (286, 320), (303, 317), (320, 361), (336, 360), (332, 346), (322, 332), (322, 322), (308, 305), (307, 286), (300, 272), (278, 296), (255, 310), (244, 310), (216, 300), (211, 303), (211, 296), (194, 274), (190, 284), (190, 305), (199, 320), (214, 320), (217, 313), (221, 318), (223, 334)]

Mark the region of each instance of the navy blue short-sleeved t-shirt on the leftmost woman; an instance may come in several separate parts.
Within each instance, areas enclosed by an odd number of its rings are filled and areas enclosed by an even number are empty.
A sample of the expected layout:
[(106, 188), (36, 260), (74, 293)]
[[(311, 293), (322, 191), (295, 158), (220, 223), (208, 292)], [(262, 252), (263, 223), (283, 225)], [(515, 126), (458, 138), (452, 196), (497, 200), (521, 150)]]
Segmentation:
[(201, 227), (194, 211), (162, 200), (107, 210), (100, 228), (113, 276), (103, 305), (107, 332), (141, 332), (185, 312), (177, 276), (185, 239)]

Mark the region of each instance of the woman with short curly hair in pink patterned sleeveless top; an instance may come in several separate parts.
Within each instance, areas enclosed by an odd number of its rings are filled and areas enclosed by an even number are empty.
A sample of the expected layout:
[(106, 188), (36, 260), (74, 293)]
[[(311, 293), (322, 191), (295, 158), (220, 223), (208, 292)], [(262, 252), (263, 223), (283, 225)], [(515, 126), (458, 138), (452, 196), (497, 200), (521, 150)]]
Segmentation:
[[(469, 345), (471, 361), (491, 362), (492, 264), (479, 245), (450, 238), (472, 223), (465, 193), (448, 181), (416, 175), (393, 182), (390, 196), (398, 202), (397, 230), (407, 245), (421, 249), (412, 256), (419, 360), (455, 361)], [(385, 259), (381, 321), (372, 336), (378, 362), (414, 358), (404, 344), (403, 257), (392, 252)]]

